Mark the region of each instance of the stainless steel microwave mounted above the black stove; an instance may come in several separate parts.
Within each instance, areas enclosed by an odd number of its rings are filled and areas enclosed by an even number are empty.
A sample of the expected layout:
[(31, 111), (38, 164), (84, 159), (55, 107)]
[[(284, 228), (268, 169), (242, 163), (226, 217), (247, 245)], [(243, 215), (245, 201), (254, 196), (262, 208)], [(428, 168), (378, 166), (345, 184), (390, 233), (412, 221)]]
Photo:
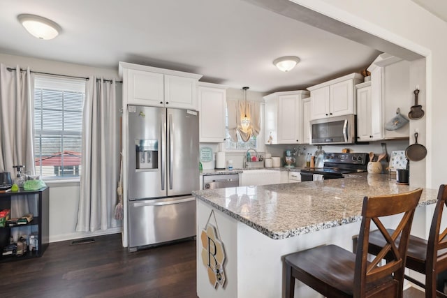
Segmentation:
[(311, 144), (353, 144), (356, 142), (356, 115), (310, 121)]

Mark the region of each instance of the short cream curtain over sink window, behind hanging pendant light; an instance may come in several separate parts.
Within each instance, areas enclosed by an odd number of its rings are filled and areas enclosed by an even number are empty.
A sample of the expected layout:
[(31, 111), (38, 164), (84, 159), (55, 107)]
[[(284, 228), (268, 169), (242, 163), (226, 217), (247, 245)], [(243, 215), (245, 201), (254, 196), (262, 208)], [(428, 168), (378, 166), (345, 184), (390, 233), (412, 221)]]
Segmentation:
[[(228, 133), (237, 141), (237, 131), (244, 142), (261, 132), (261, 104), (256, 101), (226, 100), (228, 110)], [(247, 114), (250, 126), (247, 131), (242, 128), (241, 119)]]

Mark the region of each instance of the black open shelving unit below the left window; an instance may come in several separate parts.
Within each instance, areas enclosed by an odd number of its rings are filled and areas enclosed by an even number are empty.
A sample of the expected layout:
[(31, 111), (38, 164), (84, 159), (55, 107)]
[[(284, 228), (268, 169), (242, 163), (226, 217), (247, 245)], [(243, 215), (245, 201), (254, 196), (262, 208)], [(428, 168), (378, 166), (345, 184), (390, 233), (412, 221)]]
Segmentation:
[[(0, 210), (11, 209), (11, 198), (22, 195), (27, 197), (27, 200), (36, 200), (36, 208), (38, 214), (34, 214), (34, 218), (27, 225), (16, 225), (13, 227), (0, 228), (0, 263), (13, 262), (18, 260), (27, 260), (29, 258), (39, 258), (48, 247), (50, 237), (50, 223), (49, 223), (49, 207), (50, 207), (50, 188), (45, 186), (38, 191), (10, 191), (8, 193), (0, 193)], [(33, 197), (31, 197), (33, 196)], [(11, 212), (13, 210), (11, 209)], [(25, 214), (23, 214), (25, 215)], [(13, 229), (21, 229), (23, 227), (33, 226), (32, 230), (38, 232), (38, 251), (27, 251), (24, 255), (17, 256), (3, 256), (1, 252), (4, 246), (8, 246), (10, 235)], [(37, 228), (35, 228), (37, 226)], [(28, 244), (29, 245), (29, 244)]]

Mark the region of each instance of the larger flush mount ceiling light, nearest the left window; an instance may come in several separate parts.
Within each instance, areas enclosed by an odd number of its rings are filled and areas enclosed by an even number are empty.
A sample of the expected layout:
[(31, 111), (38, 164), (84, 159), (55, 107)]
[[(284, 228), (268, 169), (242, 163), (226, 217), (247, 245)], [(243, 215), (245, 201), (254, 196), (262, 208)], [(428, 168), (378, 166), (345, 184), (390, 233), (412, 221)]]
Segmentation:
[(48, 40), (55, 38), (62, 31), (58, 24), (38, 15), (18, 15), (17, 19), (32, 36), (36, 36), (39, 39)]

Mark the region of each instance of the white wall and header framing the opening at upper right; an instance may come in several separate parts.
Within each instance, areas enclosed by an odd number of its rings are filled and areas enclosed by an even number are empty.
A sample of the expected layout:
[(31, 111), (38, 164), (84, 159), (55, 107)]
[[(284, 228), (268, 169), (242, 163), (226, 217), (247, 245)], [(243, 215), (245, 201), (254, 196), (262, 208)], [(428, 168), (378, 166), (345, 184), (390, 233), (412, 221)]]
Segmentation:
[(426, 186), (438, 188), (446, 183), (443, 156), (447, 139), (446, 94), (447, 23), (410, 0), (293, 0), (302, 6), (372, 33), (427, 57), (427, 157)]

